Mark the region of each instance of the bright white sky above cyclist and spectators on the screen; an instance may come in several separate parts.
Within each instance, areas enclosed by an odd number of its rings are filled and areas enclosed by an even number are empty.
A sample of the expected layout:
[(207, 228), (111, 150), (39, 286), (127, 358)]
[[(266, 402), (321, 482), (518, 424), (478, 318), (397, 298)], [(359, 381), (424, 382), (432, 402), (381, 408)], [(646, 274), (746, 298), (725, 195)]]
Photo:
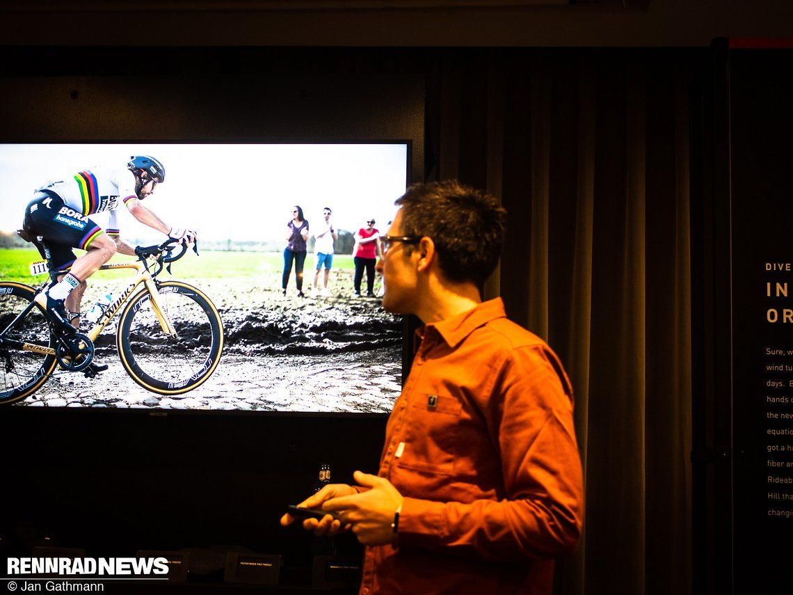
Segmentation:
[[(280, 240), (293, 205), (309, 224), (329, 206), (337, 228), (355, 231), (374, 217), (385, 233), (408, 171), (404, 144), (0, 144), (0, 230), (21, 227), (33, 190), (49, 180), (125, 167), (140, 154), (167, 172), (145, 204), (205, 240)], [(105, 217), (93, 218), (104, 225)], [(121, 222), (122, 237), (159, 240), (128, 213)]]

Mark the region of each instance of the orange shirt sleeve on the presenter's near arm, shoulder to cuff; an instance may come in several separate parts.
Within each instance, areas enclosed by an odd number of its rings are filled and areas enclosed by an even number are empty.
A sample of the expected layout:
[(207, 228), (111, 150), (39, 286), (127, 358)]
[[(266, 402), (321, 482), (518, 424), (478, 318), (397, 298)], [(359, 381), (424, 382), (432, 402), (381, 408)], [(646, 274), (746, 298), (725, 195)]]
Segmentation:
[(566, 383), (541, 348), (512, 351), (481, 403), (482, 423), (500, 460), (483, 463), (480, 477), (500, 474), (504, 497), (406, 497), (400, 547), (501, 561), (570, 555), (583, 524), (584, 489)]

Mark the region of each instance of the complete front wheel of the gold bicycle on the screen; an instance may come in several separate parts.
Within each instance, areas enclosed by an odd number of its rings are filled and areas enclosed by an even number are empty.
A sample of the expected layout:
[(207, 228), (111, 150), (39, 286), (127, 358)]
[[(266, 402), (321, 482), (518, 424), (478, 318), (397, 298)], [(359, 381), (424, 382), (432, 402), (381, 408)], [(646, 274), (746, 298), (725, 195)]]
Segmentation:
[(186, 393), (215, 371), (223, 349), (223, 323), (205, 294), (180, 281), (160, 283), (157, 304), (176, 334), (163, 331), (151, 294), (141, 291), (118, 322), (121, 363), (146, 390)]

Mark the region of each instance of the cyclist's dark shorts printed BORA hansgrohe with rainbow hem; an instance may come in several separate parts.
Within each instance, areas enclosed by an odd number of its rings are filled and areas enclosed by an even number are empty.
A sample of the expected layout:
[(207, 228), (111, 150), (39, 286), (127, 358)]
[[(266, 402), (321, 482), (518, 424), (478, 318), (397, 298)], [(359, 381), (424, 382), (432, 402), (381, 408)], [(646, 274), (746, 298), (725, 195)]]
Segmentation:
[[(71, 267), (77, 256), (72, 248), (87, 250), (104, 231), (89, 217), (64, 205), (54, 192), (39, 190), (25, 208), (23, 228), (42, 236), (50, 250), (52, 267), (62, 271)], [(46, 258), (42, 249), (42, 257)]]

